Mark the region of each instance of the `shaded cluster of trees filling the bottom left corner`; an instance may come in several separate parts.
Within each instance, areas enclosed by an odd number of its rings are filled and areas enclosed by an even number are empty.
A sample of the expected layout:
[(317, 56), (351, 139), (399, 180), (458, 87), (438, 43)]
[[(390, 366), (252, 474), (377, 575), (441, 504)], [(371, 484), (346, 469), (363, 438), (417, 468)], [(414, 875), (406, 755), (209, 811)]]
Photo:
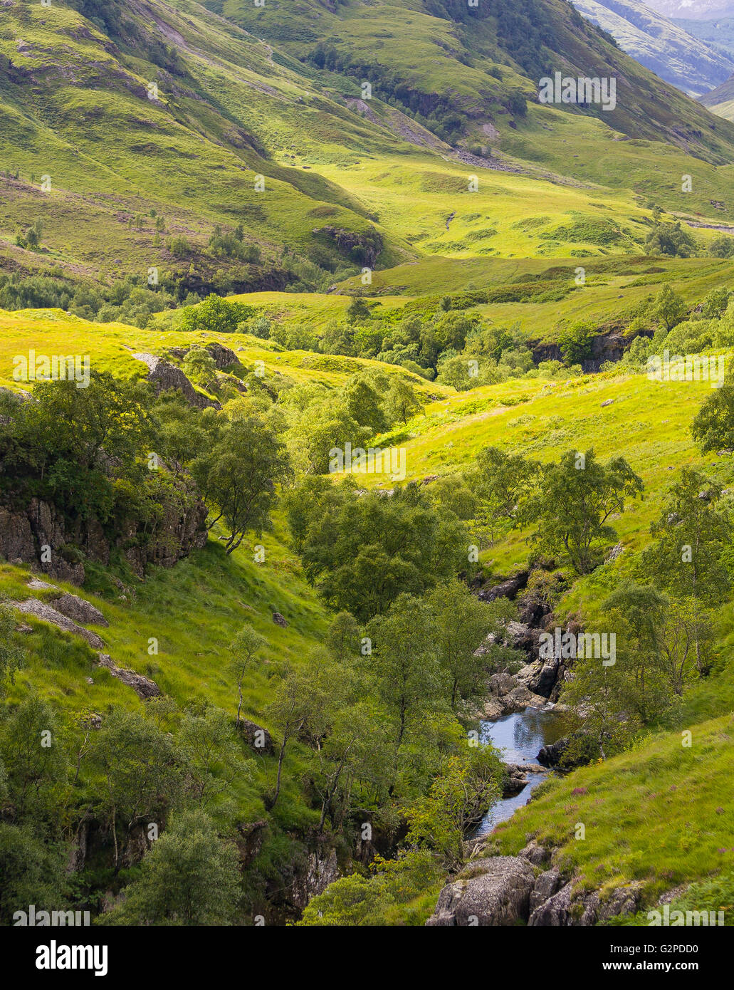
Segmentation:
[[(33, 694), (4, 706), (0, 924), (13, 924), (13, 913), (30, 904), (95, 905), (100, 883), (119, 889), (126, 881), (125, 899), (103, 923), (241, 922), (228, 788), (251, 776), (229, 717), (211, 706), (180, 711), (158, 699), (143, 714), (115, 708), (96, 729), (86, 717), (61, 720)], [(80, 881), (67, 866), (83, 821), (100, 830), (111, 855), (102, 875)], [(141, 838), (150, 850), (131, 871), (126, 864)]]

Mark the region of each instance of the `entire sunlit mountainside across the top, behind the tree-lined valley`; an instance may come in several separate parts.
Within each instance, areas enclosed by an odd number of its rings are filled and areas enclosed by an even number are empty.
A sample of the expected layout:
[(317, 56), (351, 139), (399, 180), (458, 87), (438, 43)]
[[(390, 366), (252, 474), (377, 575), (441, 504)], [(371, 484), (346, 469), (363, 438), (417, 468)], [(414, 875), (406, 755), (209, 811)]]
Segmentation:
[[(274, 4), (209, 6), (3, 7), (3, 267), (105, 283), (158, 269), (179, 298), (323, 289), (432, 254), (598, 251), (583, 231), (534, 247), (510, 231), (539, 200), (556, 226), (611, 221), (612, 251), (639, 250), (649, 202), (734, 217), (734, 127), (561, 0), (493, 0), (479, 18), (453, 2), (303, 3), (287, 21)], [(556, 69), (616, 76), (616, 109), (539, 104)], [(465, 241), (476, 213), (484, 236)], [(14, 243), (37, 221), (39, 248)], [(239, 247), (218, 226), (240, 227)]]

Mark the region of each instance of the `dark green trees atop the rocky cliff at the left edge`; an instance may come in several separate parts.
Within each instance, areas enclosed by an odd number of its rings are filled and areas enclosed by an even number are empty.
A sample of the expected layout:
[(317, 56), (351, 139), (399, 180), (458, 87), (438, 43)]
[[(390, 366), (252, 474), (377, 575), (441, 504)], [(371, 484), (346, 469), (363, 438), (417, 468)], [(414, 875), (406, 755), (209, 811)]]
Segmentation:
[(201, 493), (210, 528), (227, 527), (228, 552), (247, 531), (269, 528), (277, 486), (291, 476), (285, 446), (261, 417), (236, 407), (201, 414), (178, 392), (155, 399), (145, 382), (96, 371), (87, 388), (40, 382), (30, 402), (0, 394), (0, 457), (0, 502), (40, 498), (115, 536), (135, 519), (145, 539), (166, 511), (185, 514)]

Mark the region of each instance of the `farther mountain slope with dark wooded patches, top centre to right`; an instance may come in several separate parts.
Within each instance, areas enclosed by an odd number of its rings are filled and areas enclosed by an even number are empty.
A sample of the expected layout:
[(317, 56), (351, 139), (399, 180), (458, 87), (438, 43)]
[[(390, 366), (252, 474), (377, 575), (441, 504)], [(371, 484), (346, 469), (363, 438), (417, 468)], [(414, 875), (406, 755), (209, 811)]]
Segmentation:
[(208, 5), (323, 71), (370, 81), (376, 92), (427, 116), (450, 108), (477, 136), (487, 123), (501, 132), (517, 127), (521, 115), (508, 110), (512, 91), (532, 98), (538, 79), (560, 70), (616, 75), (616, 109), (585, 112), (629, 137), (673, 142), (704, 157), (723, 150), (719, 137), (731, 140), (728, 130), (713, 135), (710, 120), (615, 49), (565, 0), (491, 0), (476, 10), (460, 0), (420, 0), (409, 10), (397, 0), (378, 7), (348, 0), (333, 8), (308, 0), (287, 25), (275, 7), (243, 0)]

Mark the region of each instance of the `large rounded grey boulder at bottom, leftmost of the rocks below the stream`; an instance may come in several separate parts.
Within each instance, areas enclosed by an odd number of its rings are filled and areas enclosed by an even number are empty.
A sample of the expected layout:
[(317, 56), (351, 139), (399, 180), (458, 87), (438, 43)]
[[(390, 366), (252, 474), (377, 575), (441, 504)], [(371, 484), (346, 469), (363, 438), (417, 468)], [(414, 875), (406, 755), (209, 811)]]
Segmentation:
[(425, 924), (435, 928), (516, 925), (529, 915), (534, 882), (532, 866), (520, 856), (474, 860), (443, 888)]

